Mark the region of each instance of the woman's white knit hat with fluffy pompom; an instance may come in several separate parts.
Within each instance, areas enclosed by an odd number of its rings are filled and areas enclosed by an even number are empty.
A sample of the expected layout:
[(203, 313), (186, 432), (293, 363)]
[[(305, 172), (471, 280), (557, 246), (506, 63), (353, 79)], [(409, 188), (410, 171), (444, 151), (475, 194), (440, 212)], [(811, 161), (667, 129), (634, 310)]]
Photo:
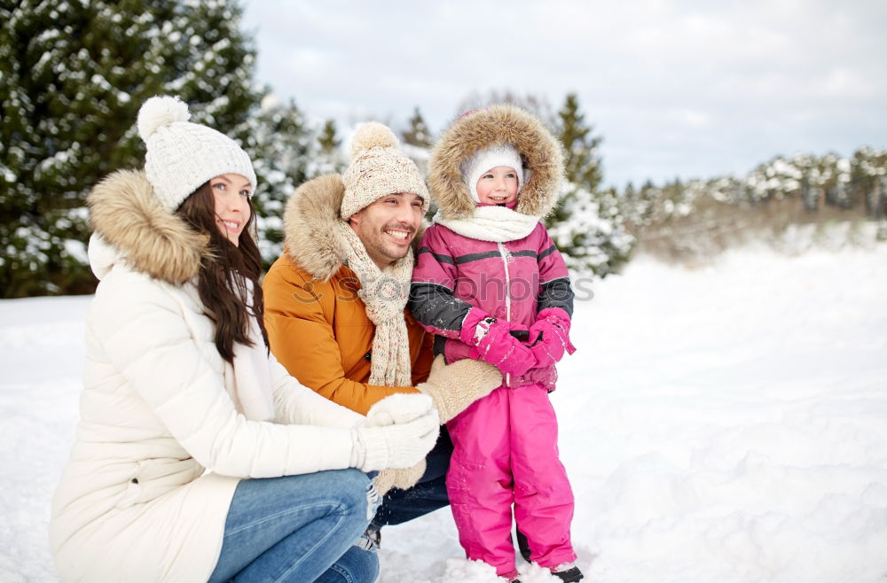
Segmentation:
[(145, 175), (161, 206), (176, 210), (200, 184), (224, 174), (246, 177), (255, 190), (247, 152), (215, 129), (189, 122), (190, 117), (178, 97), (151, 97), (138, 110), (138, 135), (148, 148)]

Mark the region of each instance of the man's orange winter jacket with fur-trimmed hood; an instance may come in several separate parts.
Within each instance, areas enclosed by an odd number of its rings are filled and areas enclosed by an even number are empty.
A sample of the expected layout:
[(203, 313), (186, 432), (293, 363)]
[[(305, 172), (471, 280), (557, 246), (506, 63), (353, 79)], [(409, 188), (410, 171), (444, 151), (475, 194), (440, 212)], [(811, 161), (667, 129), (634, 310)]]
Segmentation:
[[(338, 175), (299, 187), (287, 204), (287, 249), (265, 276), (265, 329), (271, 352), (302, 385), (365, 415), (377, 400), (414, 393), (414, 386), (368, 383), (375, 325), (357, 297), (360, 282), (342, 265), (338, 221), (344, 187)], [(308, 200), (308, 204), (301, 204)], [(404, 309), (412, 383), (428, 378), (434, 336)], [(369, 356), (370, 358), (372, 355)]]

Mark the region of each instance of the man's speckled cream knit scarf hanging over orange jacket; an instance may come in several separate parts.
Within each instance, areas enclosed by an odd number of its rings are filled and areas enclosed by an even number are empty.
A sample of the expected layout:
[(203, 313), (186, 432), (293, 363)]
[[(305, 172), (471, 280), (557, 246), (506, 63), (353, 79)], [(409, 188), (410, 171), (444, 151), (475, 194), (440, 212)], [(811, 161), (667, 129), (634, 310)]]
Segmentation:
[(370, 385), (411, 386), (410, 338), (404, 307), (410, 296), (412, 251), (380, 269), (347, 222), (337, 222), (336, 226), (346, 242), (345, 265), (357, 274), (360, 280), (357, 295), (364, 301), (367, 317), (376, 326)]

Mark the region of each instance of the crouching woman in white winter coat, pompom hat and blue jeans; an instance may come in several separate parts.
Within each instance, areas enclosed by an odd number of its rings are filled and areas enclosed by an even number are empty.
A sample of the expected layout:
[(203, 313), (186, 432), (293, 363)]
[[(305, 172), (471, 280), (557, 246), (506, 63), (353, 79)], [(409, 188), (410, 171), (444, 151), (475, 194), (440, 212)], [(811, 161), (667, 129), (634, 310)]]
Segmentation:
[(57, 569), (66, 581), (373, 581), (377, 557), (354, 546), (379, 501), (364, 472), (420, 462), (436, 410), (401, 394), (360, 416), (274, 360), (255, 172), (188, 115), (177, 98), (145, 102), (145, 171), (90, 193), (101, 281), (52, 504)]

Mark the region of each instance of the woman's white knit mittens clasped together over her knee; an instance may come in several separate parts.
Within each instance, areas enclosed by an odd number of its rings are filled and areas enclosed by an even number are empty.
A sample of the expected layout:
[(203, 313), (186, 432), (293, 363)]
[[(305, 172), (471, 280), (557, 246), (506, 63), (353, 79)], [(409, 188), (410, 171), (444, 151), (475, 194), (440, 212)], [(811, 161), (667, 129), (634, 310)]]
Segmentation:
[[(412, 399), (396, 399), (392, 403), (389, 401), (392, 397)], [(408, 405), (398, 407), (398, 403)], [(422, 409), (418, 406), (420, 403), (424, 403)], [(379, 425), (380, 422), (386, 424)], [(409, 468), (423, 460), (435, 446), (438, 423), (437, 410), (427, 396), (386, 397), (373, 405), (366, 419), (351, 430), (356, 454), (352, 466), (361, 471)]]

